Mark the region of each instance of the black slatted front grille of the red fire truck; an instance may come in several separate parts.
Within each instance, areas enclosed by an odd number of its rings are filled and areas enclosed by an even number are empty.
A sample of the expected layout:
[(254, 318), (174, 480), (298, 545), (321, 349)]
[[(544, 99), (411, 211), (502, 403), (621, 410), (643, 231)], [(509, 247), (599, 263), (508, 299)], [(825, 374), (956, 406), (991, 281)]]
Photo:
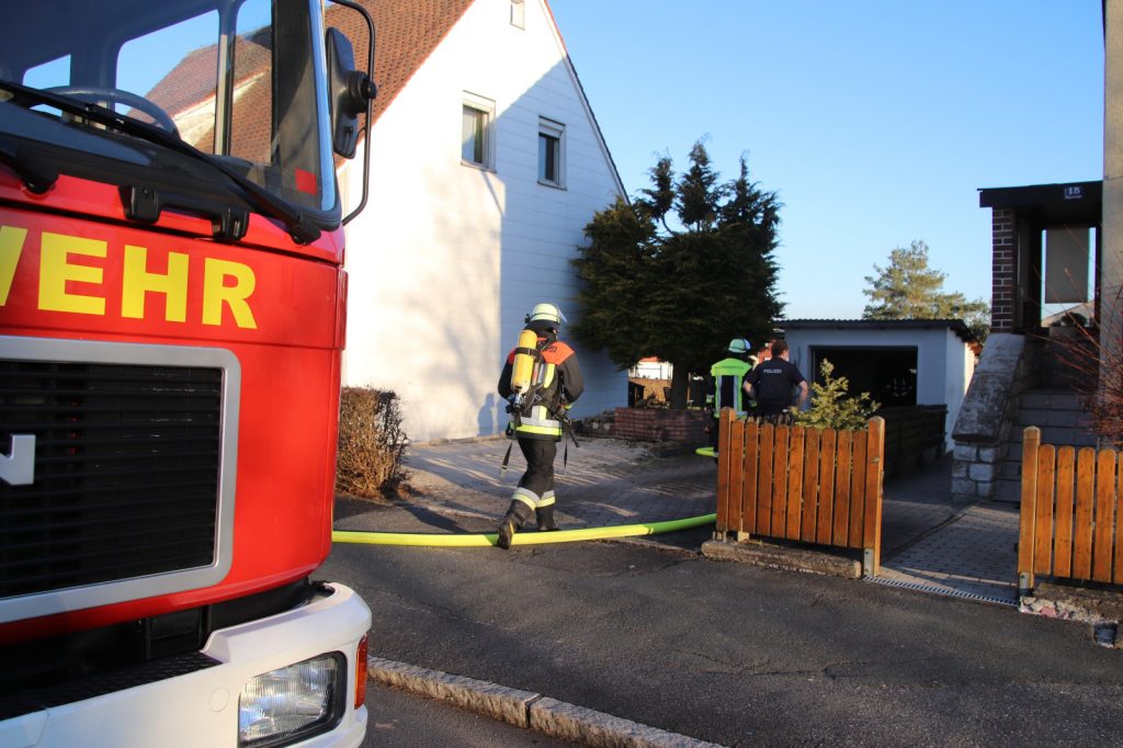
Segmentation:
[(0, 599), (212, 564), (221, 416), (220, 368), (0, 359)]

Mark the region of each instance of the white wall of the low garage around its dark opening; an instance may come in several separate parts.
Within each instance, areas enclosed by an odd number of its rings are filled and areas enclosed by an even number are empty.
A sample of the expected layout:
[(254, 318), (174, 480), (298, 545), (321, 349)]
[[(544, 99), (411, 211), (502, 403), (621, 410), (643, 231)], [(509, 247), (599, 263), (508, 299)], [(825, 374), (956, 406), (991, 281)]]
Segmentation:
[(810, 371), (812, 348), (916, 348), (916, 404), (948, 407), (944, 434), (947, 448), (952, 448), (951, 427), (970, 384), (975, 356), (950, 329), (788, 329), (785, 338), (792, 362), (809, 382), (815, 374)]

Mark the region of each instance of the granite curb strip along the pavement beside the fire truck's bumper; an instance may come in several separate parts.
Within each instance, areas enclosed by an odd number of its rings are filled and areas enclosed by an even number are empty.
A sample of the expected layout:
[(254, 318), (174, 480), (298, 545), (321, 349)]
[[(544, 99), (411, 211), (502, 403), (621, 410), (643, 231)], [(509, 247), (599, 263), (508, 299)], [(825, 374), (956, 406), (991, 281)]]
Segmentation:
[(714, 742), (695, 740), (529, 691), (430, 671), (408, 663), (368, 657), (367, 669), (369, 677), (378, 683), (583, 746), (721, 748)]

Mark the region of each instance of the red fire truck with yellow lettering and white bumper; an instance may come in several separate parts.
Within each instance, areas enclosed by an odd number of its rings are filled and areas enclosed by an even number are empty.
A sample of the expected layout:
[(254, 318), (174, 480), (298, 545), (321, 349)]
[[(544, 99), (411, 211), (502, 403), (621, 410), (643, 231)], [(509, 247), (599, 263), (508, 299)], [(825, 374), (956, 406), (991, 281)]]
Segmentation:
[(0, 746), (358, 745), (371, 612), (314, 574), (369, 16), (2, 12)]

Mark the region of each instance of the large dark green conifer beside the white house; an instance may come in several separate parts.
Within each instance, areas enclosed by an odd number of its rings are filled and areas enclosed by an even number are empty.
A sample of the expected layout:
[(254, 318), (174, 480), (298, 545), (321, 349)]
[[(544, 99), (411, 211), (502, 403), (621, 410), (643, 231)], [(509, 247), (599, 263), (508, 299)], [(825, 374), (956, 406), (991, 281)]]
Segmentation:
[(585, 228), (574, 335), (621, 368), (645, 356), (674, 364), (672, 407), (683, 408), (690, 375), (709, 372), (732, 338), (772, 337), (780, 204), (749, 181), (743, 157), (739, 177), (721, 183), (701, 142), (681, 176), (669, 156), (649, 174), (650, 189)]

